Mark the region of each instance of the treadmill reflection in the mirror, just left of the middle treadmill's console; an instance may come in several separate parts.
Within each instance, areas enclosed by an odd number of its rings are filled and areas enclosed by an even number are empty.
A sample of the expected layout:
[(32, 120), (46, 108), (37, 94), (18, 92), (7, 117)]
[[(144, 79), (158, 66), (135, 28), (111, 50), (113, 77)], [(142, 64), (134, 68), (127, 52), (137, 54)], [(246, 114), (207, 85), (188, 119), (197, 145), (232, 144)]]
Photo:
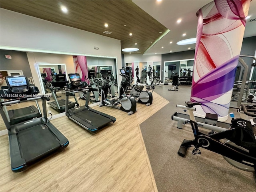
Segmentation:
[[(52, 87), (49, 87), (52, 92), (52, 98), (54, 99), (54, 101), (50, 101), (47, 104), (58, 112), (62, 113), (65, 112), (66, 101), (64, 99), (57, 100), (57, 98), (61, 96), (57, 96), (56, 90), (63, 89), (69, 81), (66, 80), (65, 74), (56, 74), (55, 76), (56, 81), (53, 81)], [(76, 105), (78, 105), (76, 97), (74, 97), (74, 99), (75, 102), (68, 101), (68, 109), (74, 108)]]

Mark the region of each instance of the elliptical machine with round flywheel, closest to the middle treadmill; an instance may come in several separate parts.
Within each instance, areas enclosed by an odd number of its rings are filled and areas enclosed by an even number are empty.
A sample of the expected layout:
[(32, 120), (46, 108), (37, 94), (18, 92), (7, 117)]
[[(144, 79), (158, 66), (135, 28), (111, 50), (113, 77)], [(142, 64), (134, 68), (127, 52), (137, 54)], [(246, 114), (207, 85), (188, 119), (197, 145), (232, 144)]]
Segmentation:
[[(134, 96), (126, 95), (118, 99), (108, 99), (108, 93), (110, 92), (109, 90), (111, 86), (111, 84), (109, 84), (110, 78), (108, 77), (108, 72), (106, 70), (100, 70), (100, 72), (102, 74), (102, 78), (104, 79), (104, 83), (101, 89), (102, 101), (100, 107), (108, 106), (128, 112), (128, 115), (134, 114), (137, 111), (136, 100)], [(118, 106), (118, 104), (121, 104), (121, 106)]]

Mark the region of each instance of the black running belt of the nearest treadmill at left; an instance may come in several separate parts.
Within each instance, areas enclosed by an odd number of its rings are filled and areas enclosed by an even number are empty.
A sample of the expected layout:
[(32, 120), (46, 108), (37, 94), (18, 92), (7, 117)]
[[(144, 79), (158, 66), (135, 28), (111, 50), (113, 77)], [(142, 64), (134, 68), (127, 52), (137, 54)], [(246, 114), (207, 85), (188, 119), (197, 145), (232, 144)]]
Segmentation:
[(59, 142), (44, 124), (19, 131), (18, 139), (20, 151), (27, 163), (60, 148)]

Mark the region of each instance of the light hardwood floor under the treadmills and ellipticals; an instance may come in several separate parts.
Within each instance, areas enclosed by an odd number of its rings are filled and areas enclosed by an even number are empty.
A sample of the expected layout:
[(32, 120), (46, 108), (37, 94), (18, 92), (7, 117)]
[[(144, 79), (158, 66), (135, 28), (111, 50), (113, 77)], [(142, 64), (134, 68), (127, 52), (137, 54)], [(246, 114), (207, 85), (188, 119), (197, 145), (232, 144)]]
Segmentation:
[(52, 120), (69, 146), (60, 153), (13, 173), (8, 136), (0, 137), (0, 191), (153, 192), (157, 191), (139, 124), (168, 101), (153, 92), (151, 106), (137, 104), (128, 116), (121, 110), (93, 107), (116, 117), (116, 122), (90, 134), (66, 116)]

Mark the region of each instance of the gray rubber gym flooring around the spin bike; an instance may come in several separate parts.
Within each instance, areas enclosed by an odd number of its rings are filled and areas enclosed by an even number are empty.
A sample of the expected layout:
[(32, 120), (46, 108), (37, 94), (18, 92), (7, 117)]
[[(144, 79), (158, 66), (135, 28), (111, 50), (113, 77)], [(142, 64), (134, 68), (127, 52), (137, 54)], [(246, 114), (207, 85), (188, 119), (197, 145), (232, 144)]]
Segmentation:
[[(191, 86), (179, 86), (178, 91), (168, 91), (171, 88), (171, 85), (156, 86), (154, 91), (170, 103), (140, 124), (158, 191), (256, 192), (253, 174), (231, 166), (219, 154), (200, 149), (202, 154), (193, 155), (193, 148), (190, 148), (185, 158), (178, 156), (182, 141), (191, 140), (194, 136), (189, 124), (178, 129), (171, 116), (177, 111), (186, 113), (176, 108), (176, 104), (190, 100)], [(230, 112), (236, 110), (230, 109)], [(237, 113), (235, 115), (239, 117)]]

